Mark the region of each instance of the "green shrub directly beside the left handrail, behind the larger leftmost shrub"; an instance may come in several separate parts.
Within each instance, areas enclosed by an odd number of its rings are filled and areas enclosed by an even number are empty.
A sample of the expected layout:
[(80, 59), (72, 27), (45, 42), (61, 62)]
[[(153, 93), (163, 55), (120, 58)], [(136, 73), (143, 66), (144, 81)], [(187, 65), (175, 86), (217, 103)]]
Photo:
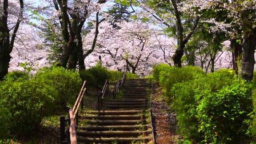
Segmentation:
[(74, 104), (82, 84), (78, 72), (61, 67), (43, 68), (37, 72), (35, 79), (56, 89), (56, 94), (52, 96), (61, 109)]

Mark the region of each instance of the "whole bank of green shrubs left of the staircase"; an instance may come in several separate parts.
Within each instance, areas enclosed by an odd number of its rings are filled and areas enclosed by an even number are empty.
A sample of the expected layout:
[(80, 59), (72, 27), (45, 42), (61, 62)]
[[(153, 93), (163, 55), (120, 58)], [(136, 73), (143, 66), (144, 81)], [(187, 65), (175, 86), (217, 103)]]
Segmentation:
[(42, 68), (36, 76), (10, 72), (0, 85), (0, 138), (8, 134), (30, 135), (68, 103), (74, 104), (81, 79), (64, 68)]

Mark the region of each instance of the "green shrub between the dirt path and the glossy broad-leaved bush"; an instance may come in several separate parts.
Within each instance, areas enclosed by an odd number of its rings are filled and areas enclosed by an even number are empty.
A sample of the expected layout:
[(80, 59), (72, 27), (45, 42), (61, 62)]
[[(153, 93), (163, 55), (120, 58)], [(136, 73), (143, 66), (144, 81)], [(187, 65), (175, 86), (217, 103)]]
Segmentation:
[(168, 101), (171, 108), (177, 114), (178, 132), (185, 139), (203, 140), (202, 133), (198, 132), (199, 121), (196, 108), (201, 99), (201, 91), (205, 87), (205, 78), (176, 83), (173, 85), (170, 94), (173, 96)]

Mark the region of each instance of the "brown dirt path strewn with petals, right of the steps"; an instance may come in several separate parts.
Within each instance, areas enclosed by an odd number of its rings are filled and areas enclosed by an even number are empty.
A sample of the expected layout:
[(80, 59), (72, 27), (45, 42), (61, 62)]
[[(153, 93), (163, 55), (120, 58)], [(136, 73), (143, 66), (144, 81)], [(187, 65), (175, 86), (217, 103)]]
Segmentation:
[(161, 97), (161, 88), (153, 94), (152, 114), (155, 139), (157, 144), (176, 144), (181, 136), (176, 134), (176, 114), (166, 105)]

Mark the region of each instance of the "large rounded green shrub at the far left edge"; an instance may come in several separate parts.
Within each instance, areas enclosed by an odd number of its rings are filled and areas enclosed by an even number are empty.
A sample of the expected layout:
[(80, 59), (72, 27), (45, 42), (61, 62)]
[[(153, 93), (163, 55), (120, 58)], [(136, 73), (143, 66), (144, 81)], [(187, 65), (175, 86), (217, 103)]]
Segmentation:
[[(16, 134), (28, 134), (38, 128), (44, 116), (54, 112), (56, 90), (41, 80), (4, 81), (0, 86), (0, 106), (11, 120), (8, 130)], [(5, 113), (0, 113), (2, 117)], [(1, 120), (2, 123), (2, 120)], [(2, 125), (2, 124), (0, 124)]]

